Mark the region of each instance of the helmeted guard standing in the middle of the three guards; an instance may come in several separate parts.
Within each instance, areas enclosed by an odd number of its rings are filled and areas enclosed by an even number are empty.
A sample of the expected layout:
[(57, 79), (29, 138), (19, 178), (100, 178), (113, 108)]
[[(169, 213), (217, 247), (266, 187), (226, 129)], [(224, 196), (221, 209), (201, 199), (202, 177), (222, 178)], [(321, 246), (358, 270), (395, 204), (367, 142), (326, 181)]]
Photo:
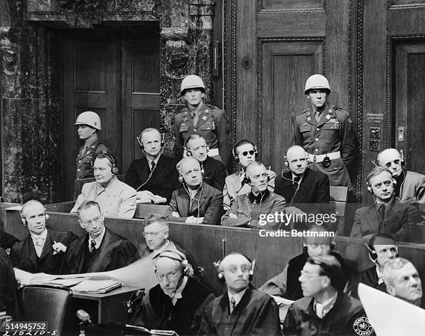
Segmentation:
[(215, 106), (204, 104), (205, 84), (194, 74), (183, 79), (180, 93), (188, 106), (174, 120), (177, 153), (183, 154), (183, 146), (189, 136), (199, 134), (210, 148), (208, 156), (219, 159), (226, 165), (230, 158), (230, 128), (226, 114)]

